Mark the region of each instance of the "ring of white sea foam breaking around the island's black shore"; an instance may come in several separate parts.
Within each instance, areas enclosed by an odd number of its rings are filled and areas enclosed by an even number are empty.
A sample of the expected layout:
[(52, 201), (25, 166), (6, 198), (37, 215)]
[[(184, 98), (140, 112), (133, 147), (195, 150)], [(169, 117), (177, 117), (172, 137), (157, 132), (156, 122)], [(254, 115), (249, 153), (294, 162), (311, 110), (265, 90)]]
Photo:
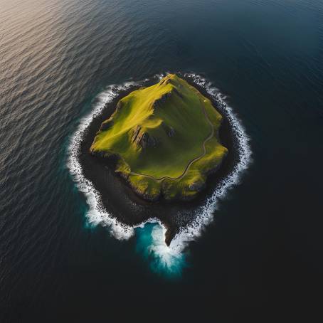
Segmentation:
[[(180, 233), (176, 234), (174, 239), (171, 240), (171, 245), (169, 247), (167, 247), (164, 243), (164, 233), (166, 232), (166, 229), (162, 223), (154, 219), (146, 222), (159, 223), (159, 226), (157, 225), (157, 227), (152, 231), (152, 239), (150, 240), (152, 245), (148, 246), (147, 250), (149, 250), (149, 253), (152, 253), (155, 258), (158, 258), (165, 267), (169, 268), (171, 268), (171, 263), (174, 262), (174, 260), (176, 261), (181, 259), (181, 253), (186, 245), (191, 240), (194, 240), (194, 238), (201, 235), (203, 228), (207, 226), (208, 223), (213, 221), (213, 211), (216, 210), (219, 198), (226, 196), (228, 189), (235, 184), (238, 184), (241, 174), (243, 174), (245, 169), (248, 169), (251, 162), (249, 138), (245, 134), (245, 129), (241, 125), (238, 117), (233, 112), (233, 109), (226, 103), (225, 97), (218, 89), (214, 88), (211, 83), (201, 76), (195, 74), (187, 74), (186, 76), (194, 80), (194, 83), (197, 85), (205, 88), (208, 94), (211, 95), (216, 102), (218, 102), (221, 112), (228, 118), (237, 143), (236, 149), (238, 149), (238, 162), (235, 164), (230, 174), (228, 174), (225, 179), (218, 183), (213, 191), (212, 196), (207, 198), (206, 203), (204, 203), (203, 206), (196, 208), (196, 216), (194, 221), (192, 221), (189, 226), (182, 228)], [(155, 78), (160, 79), (162, 77), (163, 75), (155, 75)], [(73, 134), (73, 137), (71, 137), (69, 146), (68, 168), (70, 169), (70, 173), (73, 175), (73, 179), (78, 185), (78, 189), (86, 196), (89, 206), (87, 213), (89, 223), (94, 225), (101, 223), (103, 226), (108, 226), (112, 235), (120, 240), (131, 237), (134, 234), (134, 228), (144, 228), (145, 223), (142, 223), (136, 227), (127, 226), (120, 223), (120, 221), (117, 221), (114, 217), (110, 216), (110, 213), (105, 211), (105, 208), (102, 207), (100, 194), (95, 190), (92, 183), (88, 181), (88, 179), (85, 179), (85, 176), (83, 175), (83, 170), (78, 160), (78, 153), (80, 151), (80, 142), (83, 139), (85, 130), (90, 125), (93, 118), (102, 112), (105, 104), (107, 102), (111, 102), (113, 98), (118, 95), (120, 90), (126, 90), (131, 85), (137, 84), (140, 83), (129, 82), (123, 85), (110, 85), (107, 87), (107, 89), (97, 97), (97, 103), (94, 105), (92, 112), (80, 120), (80, 125)]]

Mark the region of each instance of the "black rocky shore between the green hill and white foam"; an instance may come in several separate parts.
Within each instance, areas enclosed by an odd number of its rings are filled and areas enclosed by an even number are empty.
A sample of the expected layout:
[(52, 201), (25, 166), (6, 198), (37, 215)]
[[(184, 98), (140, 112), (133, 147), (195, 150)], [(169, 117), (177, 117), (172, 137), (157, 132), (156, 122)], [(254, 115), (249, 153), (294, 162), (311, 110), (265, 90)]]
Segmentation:
[[(127, 90), (121, 90), (118, 95), (107, 102), (100, 115), (93, 118), (89, 127), (83, 134), (80, 143), (79, 160), (83, 168), (83, 174), (86, 179), (90, 180), (95, 189), (100, 192), (102, 206), (118, 221), (129, 226), (135, 226), (139, 223), (147, 221), (149, 218), (159, 218), (166, 226), (166, 243), (169, 244), (174, 235), (179, 232), (181, 226), (191, 221), (194, 209), (201, 206), (203, 201), (208, 196), (211, 196), (216, 185), (225, 178), (227, 174), (233, 169), (235, 161), (238, 159), (238, 153), (235, 149), (235, 138), (231, 129), (230, 122), (226, 117), (225, 111), (219, 107), (220, 102), (217, 102), (207, 90), (200, 85), (194, 83), (190, 77), (181, 75), (191, 85), (194, 85), (204, 96), (211, 100), (214, 106), (223, 115), (223, 122), (220, 129), (221, 142), (228, 147), (228, 155), (224, 159), (220, 168), (213, 171), (213, 174), (208, 175), (206, 187), (198, 194), (193, 201), (171, 201), (164, 200), (155, 201), (154, 203), (144, 201), (139, 198), (137, 194), (125, 183), (118, 174), (115, 174), (114, 167), (116, 159), (112, 158), (109, 161), (100, 157), (93, 157), (89, 154), (89, 148), (92, 144), (92, 139), (95, 137), (97, 129), (100, 128), (102, 121), (110, 117), (115, 111), (117, 102), (121, 97), (129, 94), (133, 90), (142, 87), (143, 85), (132, 85)], [(149, 80), (144, 85), (155, 83), (156, 80)], [(183, 216), (179, 216), (183, 213)]]

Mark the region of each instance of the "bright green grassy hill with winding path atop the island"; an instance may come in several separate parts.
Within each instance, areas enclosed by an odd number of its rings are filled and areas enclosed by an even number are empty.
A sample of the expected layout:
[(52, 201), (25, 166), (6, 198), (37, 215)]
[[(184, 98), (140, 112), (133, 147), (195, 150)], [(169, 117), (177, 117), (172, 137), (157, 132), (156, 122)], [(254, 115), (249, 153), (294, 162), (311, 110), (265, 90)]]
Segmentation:
[(122, 98), (90, 147), (115, 155), (116, 171), (143, 198), (190, 199), (227, 154), (222, 117), (210, 100), (176, 75)]

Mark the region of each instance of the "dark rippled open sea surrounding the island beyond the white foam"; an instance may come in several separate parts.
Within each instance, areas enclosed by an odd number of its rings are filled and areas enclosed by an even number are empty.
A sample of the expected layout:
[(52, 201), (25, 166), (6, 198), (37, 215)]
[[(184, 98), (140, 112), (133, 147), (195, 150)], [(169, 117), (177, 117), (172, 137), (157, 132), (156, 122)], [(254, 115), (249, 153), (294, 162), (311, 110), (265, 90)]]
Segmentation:
[[(68, 160), (109, 85), (166, 71), (228, 96), (253, 162), (165, 260), (160, 226), (120, 240), (89, 221)], [(322, 139), (322, 1), (0, 0), (0, 321), (309, 319)]]

